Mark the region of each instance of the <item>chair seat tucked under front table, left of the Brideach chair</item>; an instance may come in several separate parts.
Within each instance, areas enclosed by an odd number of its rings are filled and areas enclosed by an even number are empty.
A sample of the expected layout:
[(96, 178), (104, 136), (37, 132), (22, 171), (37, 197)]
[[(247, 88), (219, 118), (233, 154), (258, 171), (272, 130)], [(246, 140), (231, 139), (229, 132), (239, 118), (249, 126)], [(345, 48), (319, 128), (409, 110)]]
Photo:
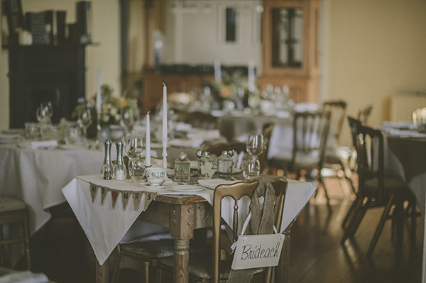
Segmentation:
[[(211, 248), (205, 243), (194, 242), (190, 245), (190, 253), (200, 253)], [(175, 241), (173, 239), (148, 240), (145, 242), (133, 242), (121, 244), (121, 250), (133, 255), (147, 258), (173, 257)]]

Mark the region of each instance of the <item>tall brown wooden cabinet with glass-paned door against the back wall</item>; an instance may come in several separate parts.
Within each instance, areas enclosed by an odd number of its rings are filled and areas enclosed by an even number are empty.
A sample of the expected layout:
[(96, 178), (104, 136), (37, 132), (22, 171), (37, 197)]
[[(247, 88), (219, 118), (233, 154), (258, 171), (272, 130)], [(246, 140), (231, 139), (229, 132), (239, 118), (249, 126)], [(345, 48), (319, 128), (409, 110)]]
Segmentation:
[(295, 102), (317, 102), (319, 28), (319, 0), (263, 0), (261, 89), (288, 84)]

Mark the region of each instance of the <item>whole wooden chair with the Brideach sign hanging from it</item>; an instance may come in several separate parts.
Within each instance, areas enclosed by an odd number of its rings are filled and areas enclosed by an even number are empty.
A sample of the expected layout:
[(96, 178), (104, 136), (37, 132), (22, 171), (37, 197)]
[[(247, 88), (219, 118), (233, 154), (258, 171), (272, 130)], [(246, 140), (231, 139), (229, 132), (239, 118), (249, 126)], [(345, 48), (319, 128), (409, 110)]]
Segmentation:
[[(285, 201), (285, 194), (287, 192), (288, 182), (284, 178), (271, 179), (272, 186), (275, 190), (275, 201), (274, 201), (274, 224), (277, 231), (280, 231), (281, 220), (283, 217), (283, 207)], [(233, 252), (229, 252), (222, 248), (221, 238), (221, 226), (222, 226), (222, 199), (230, 196), (234, 205), (234, 221), (232, 223), (233, 243), (238, 238), (238, 205), (236, 204), (239, 199), (243, 196), (253, 196), (256, 191), (258, 182), (237, 182), (234, 184), (222, 184), (216, 187), (214, 190), (213, 199), (213, 238), (212, 248), (210, 250), (211, 255), (208, 256), (205, 253), (190, 253), (190, 279), (197, 282), (226, 282), (229, 277), (231, 269)], [(173, 270), (173, 257), (165, 257), (161, 260), (161, 268), (165, 270)], [(272, 282), (273, 267), (266, 267), (265, 269), (257, 269), (255, 274), (264, 272), (263, 282)], [(282, 272), (282, 270), (280, 271)]]

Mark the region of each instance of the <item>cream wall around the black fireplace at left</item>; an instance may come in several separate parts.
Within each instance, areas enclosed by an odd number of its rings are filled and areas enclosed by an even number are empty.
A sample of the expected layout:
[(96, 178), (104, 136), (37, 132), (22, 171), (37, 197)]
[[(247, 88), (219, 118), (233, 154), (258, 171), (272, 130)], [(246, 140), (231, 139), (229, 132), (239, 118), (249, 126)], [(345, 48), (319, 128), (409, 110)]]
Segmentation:
[[(48, 9), (66, 10), (67, 23), (75, 23), (75, 0), (21, 0), (23, 13)], [(102, 67), (102, 82), (111, 84), (120, 94), (120, 25), (119, 0), (92, 0), (92, 41), (86, 48), (86, 95), (97, 88), (97, 70)], [(3, 28), (3, 27), (2, 27)], [(0, 51), (0, 129), (9, 128), (8, 52)]]

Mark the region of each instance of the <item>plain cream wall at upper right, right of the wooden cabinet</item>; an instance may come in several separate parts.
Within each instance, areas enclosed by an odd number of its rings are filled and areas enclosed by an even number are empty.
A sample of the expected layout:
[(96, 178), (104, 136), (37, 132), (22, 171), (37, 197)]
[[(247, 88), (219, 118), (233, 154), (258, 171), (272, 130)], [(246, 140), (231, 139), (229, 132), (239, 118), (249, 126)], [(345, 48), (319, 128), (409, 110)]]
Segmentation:
[(373, 104), (379, 125), (390, 96), (426, 91), (425, 0), (325, 1), (324, 99), (346, 100), (352, 116)]

